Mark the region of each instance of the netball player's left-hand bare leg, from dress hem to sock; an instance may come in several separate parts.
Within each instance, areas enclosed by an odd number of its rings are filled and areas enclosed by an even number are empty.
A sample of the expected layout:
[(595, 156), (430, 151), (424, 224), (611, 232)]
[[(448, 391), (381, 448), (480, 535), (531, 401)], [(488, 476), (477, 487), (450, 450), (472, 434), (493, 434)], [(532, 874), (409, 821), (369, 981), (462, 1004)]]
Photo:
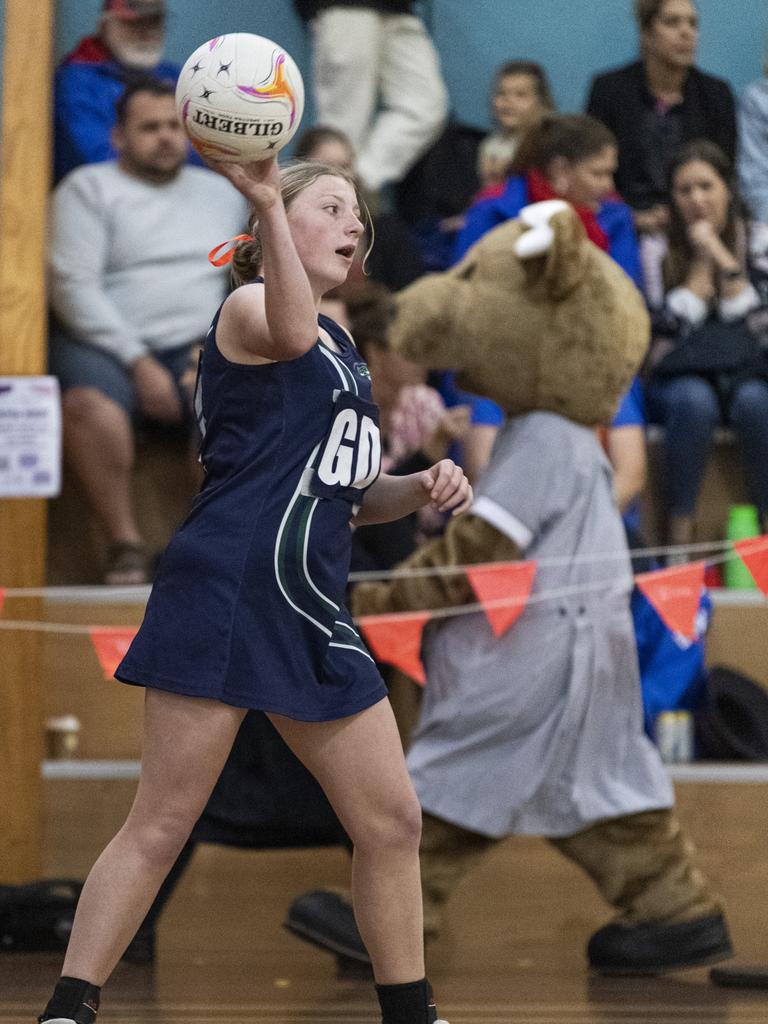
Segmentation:
[(200, 817), (244, 714), (147, 689), (136, 797), (86, 880), (63, 975), (106, 981)]

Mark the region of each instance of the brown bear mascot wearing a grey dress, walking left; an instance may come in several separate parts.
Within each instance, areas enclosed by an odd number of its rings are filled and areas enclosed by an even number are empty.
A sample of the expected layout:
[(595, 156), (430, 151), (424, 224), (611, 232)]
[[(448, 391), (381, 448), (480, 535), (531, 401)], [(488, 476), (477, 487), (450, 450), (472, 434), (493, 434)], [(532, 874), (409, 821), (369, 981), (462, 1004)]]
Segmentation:
[[(459, 612), (426, 627), (408, 755), (424, 811), (427, 938), (480, 857), (536, 835), (616, 911), (589, 941), (595, 970), (657, 974), (731, 953), (643, 732), (632, 567), (599, 440), (648, 335), (639, 292), (561, 201), (525, 208), (397, 297), (392, 347), (459, 371), (461, 387), (507, 414), (471, 511), (398, 567), (411, 571), (353, 595), (358, 616)], [(496, 636), (466, 574), (450, 569), (521, 558), (538, 563), (529, 599)], [(335, 894), (298, 897), (287, 927), (365, 958)]]

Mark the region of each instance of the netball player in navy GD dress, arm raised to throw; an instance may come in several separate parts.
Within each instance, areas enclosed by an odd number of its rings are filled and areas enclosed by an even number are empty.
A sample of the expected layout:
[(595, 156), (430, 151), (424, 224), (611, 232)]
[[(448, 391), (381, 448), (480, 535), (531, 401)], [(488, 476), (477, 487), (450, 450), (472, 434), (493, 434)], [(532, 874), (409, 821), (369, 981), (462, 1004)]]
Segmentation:
[[(93, 1024), (109, 978), (221, 770), (265, 711), (354, 843), (354, 907), (383, 1024), (431, 1024), (421, 811), (384, 684), (343, 605), (351, 527), (471, 503), (461, 469), (379, 475), (378, 413), (349, 336), (318, 316), (364, 225), (352, 179), (272, 159), (216, 168), (253, 206), (241, 281), (204, 346), (205, 482), (166, 551), (118, 678), (146, 688), (141, 778), (83, 889), (40, 1021)], [(258, 276), (257, 276), (258, 274)]]

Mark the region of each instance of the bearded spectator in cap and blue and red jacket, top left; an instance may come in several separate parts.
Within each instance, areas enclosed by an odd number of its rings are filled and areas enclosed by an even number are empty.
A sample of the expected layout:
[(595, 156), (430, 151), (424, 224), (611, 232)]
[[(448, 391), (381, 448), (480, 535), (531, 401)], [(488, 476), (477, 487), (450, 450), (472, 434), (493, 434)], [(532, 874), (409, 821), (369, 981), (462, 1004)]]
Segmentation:
[(179, 68), (161, 59), (165, 17), (165, 0), (104, 0), (95, 34), (61, 60), (53, 86), (54, 181), (81, 164), (115, 158), (115, 104), (127, 82), (152, 74), (175, 84)]

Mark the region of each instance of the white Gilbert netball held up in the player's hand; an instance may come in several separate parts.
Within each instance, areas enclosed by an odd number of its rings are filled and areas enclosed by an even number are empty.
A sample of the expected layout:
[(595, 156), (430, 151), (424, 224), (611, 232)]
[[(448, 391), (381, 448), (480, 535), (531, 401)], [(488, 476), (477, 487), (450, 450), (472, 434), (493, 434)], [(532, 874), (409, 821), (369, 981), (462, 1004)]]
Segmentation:
[(203, 157), (232, 164), (266, 160), (296, 134), (304, 83), (278, 43), (234, 32), (203, 43), (186, 60), (176, 105)]

